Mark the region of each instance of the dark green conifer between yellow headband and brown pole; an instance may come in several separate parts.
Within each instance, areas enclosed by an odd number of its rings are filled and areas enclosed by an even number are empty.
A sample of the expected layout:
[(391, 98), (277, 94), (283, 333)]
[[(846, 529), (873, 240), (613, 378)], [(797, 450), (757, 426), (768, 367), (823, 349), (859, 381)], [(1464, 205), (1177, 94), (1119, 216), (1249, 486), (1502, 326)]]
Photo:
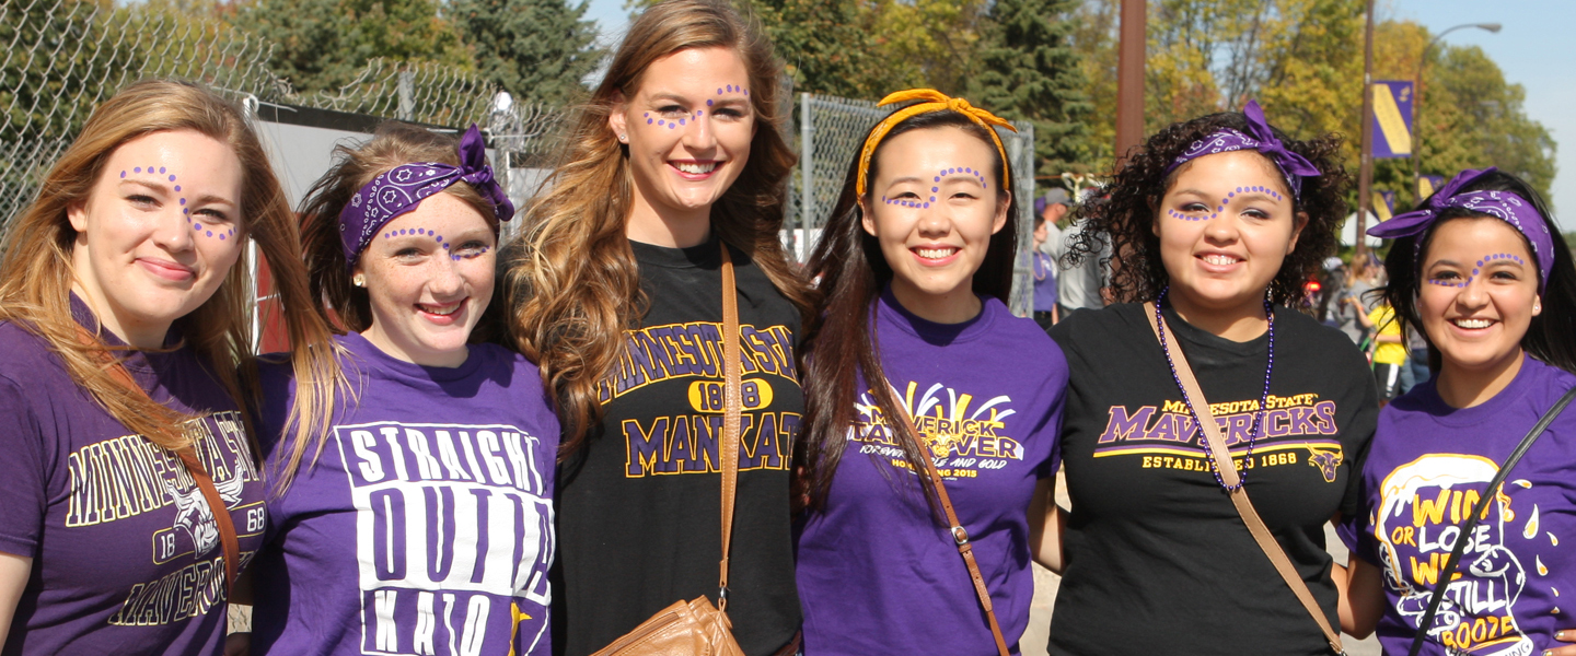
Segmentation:
[(1035, 173), (1084, 173), (1087, 156), (1078, 53), (1069, 46), (1073, 0), (996, 0), (980, 25), (979, 63), (969, 91), (1004, 118), (1034, 124)]

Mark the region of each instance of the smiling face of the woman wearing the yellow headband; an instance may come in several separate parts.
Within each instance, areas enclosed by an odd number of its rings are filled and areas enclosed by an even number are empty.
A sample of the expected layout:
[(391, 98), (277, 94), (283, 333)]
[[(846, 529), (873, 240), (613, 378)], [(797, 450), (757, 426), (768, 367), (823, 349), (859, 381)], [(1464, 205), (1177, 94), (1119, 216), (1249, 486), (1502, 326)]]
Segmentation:
[(892, 293), (909, 311), (944, 322), (979, 311), (974, 272), (991, 234), (1007, 225), (1010, 200), (990, 173), (996, 159), (993, 145), (952, 126), (881, 143), (860, 200), (864, 228), (881, 244)]

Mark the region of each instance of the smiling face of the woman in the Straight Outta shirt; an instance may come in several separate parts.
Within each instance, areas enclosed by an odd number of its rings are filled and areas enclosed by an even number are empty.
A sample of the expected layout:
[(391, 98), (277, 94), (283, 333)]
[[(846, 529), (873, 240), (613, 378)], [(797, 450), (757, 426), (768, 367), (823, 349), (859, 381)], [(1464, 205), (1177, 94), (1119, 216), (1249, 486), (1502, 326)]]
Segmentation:
[(492, 300), (495, 247), (481, 212), (451, 193), (385, 223), (356, 263), (372, 300), (362, 335), (405, 362), (465, 363), (465, 341)]

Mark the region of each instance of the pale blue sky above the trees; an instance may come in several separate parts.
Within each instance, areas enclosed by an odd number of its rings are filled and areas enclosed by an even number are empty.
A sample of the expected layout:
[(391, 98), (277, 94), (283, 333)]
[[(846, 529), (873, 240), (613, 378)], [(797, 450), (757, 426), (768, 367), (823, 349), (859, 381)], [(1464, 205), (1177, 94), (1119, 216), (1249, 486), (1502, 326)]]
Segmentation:
[[(1559, 142), (1559, 173), (1552, 198), (1565, 230), (1576, 230), (1576, 0), (1379, 0), (1379, 19), (1417, 20), (1439, 33), (1469, 22), (1497, 22), (1497, 35), (1459, 30), (1445, 36), (1451, 46), (1480, 46), (1505, 80), (1527, 90), (1526, 112)], [(605, 44), (616, 44), (629, 14), (624, 0), (591, 0), (586, 17), (596, 19)]]

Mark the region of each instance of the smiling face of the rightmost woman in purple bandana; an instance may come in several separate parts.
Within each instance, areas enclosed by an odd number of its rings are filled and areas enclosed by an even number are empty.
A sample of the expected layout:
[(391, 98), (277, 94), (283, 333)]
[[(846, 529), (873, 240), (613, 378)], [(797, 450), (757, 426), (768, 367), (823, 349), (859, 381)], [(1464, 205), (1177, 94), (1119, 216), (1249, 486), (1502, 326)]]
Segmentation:
[(1521, 338), (1543, 308), (1527, 241), (1492, 217), (1434, 228), (1423, 253), (1417, 311), (1445, 370), (1491, 371), (1521, 357)]

